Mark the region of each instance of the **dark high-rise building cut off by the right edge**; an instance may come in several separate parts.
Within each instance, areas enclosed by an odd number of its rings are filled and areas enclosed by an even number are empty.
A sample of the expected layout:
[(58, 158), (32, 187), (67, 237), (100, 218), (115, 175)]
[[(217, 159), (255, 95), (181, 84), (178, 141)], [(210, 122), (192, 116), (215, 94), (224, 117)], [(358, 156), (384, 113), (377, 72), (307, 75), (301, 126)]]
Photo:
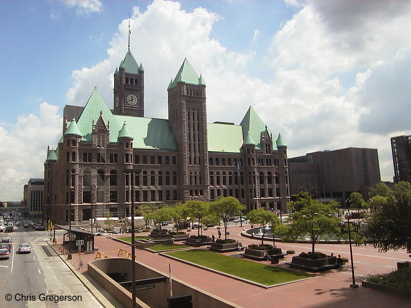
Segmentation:
[(411, 136), (391, 138), (394, 162), (394, 183), (411, 182)]

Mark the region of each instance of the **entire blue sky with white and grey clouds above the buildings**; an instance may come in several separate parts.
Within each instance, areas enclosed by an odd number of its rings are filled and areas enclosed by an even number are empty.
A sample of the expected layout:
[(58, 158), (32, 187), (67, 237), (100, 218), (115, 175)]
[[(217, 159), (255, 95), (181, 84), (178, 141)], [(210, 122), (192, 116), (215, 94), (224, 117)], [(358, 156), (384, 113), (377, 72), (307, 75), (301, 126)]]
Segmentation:
[(288, 157), (377, 148), (393, 181), (390, 138), (411, 134), (410, 1), (0, 1), (0, 200), (44, 177), (65, 105), (95, 87), (113, 108), (113, 73), (144, 67), (145, 116), (167, 118), (167, 86), (187, 57), (207, 88), (208, 122), (249, 106)]

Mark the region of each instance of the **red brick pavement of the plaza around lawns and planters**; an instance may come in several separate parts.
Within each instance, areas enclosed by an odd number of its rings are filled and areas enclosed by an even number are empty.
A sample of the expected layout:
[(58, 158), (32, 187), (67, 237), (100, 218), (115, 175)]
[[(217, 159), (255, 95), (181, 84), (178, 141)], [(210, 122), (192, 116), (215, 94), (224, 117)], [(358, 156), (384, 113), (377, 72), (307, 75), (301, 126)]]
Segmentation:
[[(241, 237), (241, 230), (242, 228), (239, 226), (230, 227), (230, 238), (239, 240), (243, 246), (258, 242), (258, 240)], [(197, 231), (194, 230), (190, 232), (190, 234), (196, 233)], [(217, 229), (204, 230), (203, 234), (214, 234), (217, 238)], [(110, 240), (105, 236), (96, 236), (95, 245), (99, 248), (99, 252), (108, 257), (117, 257), (119, 248), (131, 251), (128, 245)], [(293, 249), (297, 254), (303, 251), (308, 252), (311, 249), (310, 244), (304, 243), (276, 242), (276, 245), (283, 251)], [(346, 263), (343, 268), (319, 274), (313, 279), (266, 289), (144, 250), (137, 249), (136, 255), (138, 261), (156, 268), (165, 275), (167, 275), (169, 263), (171, 263), (173, 277), (245, 308), (411, 308), (409, 297), (370, 290), (361, 286), (361, 280), (369, 274), (387, 273), (396, 268), (398, 261), (408, 261), (409, 257), (406, 252), (380, 253), (372, 246), (355, 245), (352, 246), (352, 249), (356, 282), (360, 284), (359, 288), (349, 287), (352, 282), (350, 263)], [(348, 244), (316, 244), (315, 250), (349, 257)], [(238, 252), (225, 254), (239, 257)], [(86, 263), (94, 260), (95, 257), (96, 254), (82, 254), (81, 258), (85, 266), (79, 271), (84, 273), (87, 270)], [(290, 261), (291, 258), (292, 255), (286, 256), (278, 266), (288, 267), (284, 263)], [(79, 264), (78, 254), (73, 254), (70, 262), (77, 268)]]

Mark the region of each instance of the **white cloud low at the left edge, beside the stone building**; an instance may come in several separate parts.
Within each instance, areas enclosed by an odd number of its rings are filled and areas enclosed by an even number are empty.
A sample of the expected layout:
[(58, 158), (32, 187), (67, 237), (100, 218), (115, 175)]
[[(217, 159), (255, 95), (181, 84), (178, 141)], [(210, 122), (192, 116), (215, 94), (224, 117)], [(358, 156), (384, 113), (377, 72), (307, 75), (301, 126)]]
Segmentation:
[(46, 102), (39, 108), (38, 115), (21, 115), (9, 130), (0, 123), (1, 201), (21, 200), (29, 178), (44, 177), (47, 146), (57, 144), (61, 137), (59, 108)]

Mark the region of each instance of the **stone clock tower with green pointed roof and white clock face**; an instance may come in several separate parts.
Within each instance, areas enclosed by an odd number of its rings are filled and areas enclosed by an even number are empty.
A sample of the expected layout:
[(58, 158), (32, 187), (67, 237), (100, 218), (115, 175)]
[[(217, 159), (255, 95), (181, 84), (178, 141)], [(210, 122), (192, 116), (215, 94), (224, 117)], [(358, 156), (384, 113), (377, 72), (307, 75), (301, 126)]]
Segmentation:
[(144, 117), (144, 69), (130, 50), (114, 73), (114, 113)]

